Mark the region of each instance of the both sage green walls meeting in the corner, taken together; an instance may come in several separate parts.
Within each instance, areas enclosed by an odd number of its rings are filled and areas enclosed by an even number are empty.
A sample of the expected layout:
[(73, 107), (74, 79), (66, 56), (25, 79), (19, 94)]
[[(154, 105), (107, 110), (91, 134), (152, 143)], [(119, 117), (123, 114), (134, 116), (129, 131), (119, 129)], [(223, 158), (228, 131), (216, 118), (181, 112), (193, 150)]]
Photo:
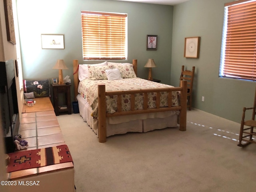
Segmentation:
[[(81, 10), (128, 14), (128, 62), (138, 59), (138, 76), (153, 58), (153, 77), (179, 85), (181, 66), (196, 67), (193, 107), (240, 122), (242, 108), (253, 104), (255, 82), (219, 78), (224, 3), (229, 0), (190, 0), (175, 6), (111, 0), (17, 0), (24, 79), (58, 77), (52, 67), (64, 59), (72, 77), (72, 60), (82, 60)], [(64, 50), (42, 50), (41, 34), (64, 34)], [(146, 50), (146, 35), (158, 35), (158, 50)], [(184, 58), (184, 38), (201, 37), (198, 59)], [(71, 78), (72, 79), (72, 78)], [(204, 102), (202, 102), (204, 96)], [(72, 93), (72, 101), (74, 94)], [(250, 117), (250, 115), (249, 115)]]

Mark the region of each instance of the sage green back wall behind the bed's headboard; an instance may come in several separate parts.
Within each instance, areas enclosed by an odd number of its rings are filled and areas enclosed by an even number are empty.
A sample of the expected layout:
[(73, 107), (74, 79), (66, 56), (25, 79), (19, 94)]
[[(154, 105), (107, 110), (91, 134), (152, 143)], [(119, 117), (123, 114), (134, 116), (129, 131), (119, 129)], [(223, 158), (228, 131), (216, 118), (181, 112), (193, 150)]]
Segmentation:
[[(24, 79), (58, 77), (58, 70), (52, 69), (58, 59), (64, 59), (69, 68), (63, 70), (64, 77), (73, 76), (73, 59), (80, 64), (102, 62), (82, 59), (81, 10), (92, 10), (127, 13), (128, 59), (122, 62), (138, 59), (138, 77), (147, 78), (144, 65), (153, 58), (157, 66), (153, 77), (170, 83), (173, 6), (111, 0), (17, 0), (17, 8)], [(42, 50), (41, 34), (64, 34), (65, 49)], [(146, 50), (146, 35), (158, 35), (157, 50)]]

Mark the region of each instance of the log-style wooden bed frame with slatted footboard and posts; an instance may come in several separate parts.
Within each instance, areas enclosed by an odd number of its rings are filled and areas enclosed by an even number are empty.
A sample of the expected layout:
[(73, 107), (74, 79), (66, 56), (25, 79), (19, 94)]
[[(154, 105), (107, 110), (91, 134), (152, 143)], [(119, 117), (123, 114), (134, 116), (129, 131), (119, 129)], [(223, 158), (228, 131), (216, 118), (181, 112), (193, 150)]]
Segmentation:
[[(137, 76), (137, 60), (132, 60), (134, 72)], [(73, 60), (73, 72), (74, 72), (74, 93), (75, 98), (78, 95), (78, 60)], [(180, 91), (180, 106), (172, 106), (172, 91)], [(168, 107), (160, 107), (160, 92), (168, 92)], [(147, 108), (148, 106), (148, 94), (156, 93), (156, 108)], [(131, 110), (122, 111), (121, 96), (125, 94), (131, 95)], [(135, 110), (135, 94), (143, 94), (144, 109)], [(106, 112), (106, 96), (117, 95), (117, 112), (110, 114)], [(172, 88), (155, 88), (144, 90), (124, 90), (124, 91), (110, 91), (106, 92), (105, 85), (98, 85), (98, 138), (99, 142), (106, 142), (106, 118), (111, 116), (122, 116), (130, 114), (142, 114), (151, 112), (164, 112), (170, 110), (180, 110), (178, 122), (180, 124), (180, 131), (186, 131), (186, 116), (187, 116), (187, 82), (182, 81), (180, 87)]]

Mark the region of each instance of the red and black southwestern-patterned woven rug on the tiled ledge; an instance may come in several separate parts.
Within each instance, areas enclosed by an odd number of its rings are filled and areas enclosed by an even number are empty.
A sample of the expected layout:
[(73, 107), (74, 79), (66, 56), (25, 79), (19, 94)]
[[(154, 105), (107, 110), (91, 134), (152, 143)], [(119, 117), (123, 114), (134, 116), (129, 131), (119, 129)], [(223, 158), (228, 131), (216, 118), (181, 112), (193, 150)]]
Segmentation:
[(9, 153), (7, 172), (73, 162), (68, 146), (60, 145), (35, 150)]

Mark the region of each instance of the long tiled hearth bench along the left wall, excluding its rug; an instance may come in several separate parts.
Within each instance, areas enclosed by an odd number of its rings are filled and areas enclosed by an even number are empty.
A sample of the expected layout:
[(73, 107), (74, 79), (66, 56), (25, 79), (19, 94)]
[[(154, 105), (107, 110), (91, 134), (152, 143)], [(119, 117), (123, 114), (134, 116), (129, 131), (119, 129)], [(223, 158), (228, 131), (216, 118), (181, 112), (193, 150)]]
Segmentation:
[[(26, 150), (34, 150), (66, 144), (49, 97), (34, 98), (32, 107), (24, 104), (19, 134), (28, 141)], [(19, 153), (23, 150), (16, 151)], [(74, 165), (72, 162), (30, 168), (7, 173), (8, 180), (16, 186), (4, 186), (3, 191), (26, 192), (75, 192)], [(39, 186), (21, 186), (18, 183), (39, 181)]]

